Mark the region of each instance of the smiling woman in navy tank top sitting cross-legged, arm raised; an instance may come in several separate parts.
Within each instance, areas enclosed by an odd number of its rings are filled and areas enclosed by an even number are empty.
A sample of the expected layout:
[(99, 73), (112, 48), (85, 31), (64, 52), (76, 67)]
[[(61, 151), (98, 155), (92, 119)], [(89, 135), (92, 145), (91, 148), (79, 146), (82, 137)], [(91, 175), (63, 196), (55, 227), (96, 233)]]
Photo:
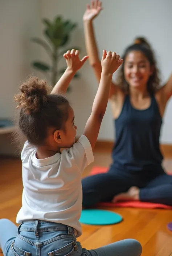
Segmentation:
[[(98, 81), (102, 67), (93, 20), (101, 9), (101, 1), (92, 1), (83, 16), (87, 53)], [(125, 50), (123, 60), (119, 84), (111, 84), (109, 97), (116, 135), (112, 164), (107, 173), (83, 179), (83, 206), (112, 200), (172, 206), (172, 176), (161, 166), (159, 145), (162, 118), (172, 95), (172, 76), (160, 89), (154, 54), (144, 38), (137, 38)]]

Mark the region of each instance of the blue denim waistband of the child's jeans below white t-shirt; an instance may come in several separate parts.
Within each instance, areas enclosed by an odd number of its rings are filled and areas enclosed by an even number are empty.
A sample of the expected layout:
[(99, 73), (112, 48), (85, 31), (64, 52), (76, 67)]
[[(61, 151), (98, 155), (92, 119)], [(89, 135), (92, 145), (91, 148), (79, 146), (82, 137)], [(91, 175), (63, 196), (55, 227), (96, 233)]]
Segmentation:
[(44, 231), (67, 231), (68, 234), (74, 234), (74, 228), (62, 223), (48, 222), (45, 220), (25, 220), (18, 227), (19, 231), (30, 231), (37, 234)]

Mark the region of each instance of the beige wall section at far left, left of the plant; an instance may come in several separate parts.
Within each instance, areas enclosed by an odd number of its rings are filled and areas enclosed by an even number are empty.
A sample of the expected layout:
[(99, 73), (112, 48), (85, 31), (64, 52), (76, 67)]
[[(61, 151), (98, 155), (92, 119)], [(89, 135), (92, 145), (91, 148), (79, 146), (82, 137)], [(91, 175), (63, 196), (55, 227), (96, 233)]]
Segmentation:
[(13, 96), (40, 55), (30, 41), (41, 33), (40, 23), (39, 0), (0, 1), (0, 118), (13, 118)]

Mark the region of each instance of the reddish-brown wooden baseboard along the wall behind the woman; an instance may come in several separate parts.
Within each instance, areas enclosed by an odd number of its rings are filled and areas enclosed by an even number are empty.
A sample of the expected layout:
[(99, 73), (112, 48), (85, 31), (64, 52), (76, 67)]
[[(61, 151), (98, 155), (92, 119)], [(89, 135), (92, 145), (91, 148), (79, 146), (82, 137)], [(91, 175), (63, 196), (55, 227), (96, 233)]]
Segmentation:
[[(97, 141), (95, 145), (96, 151), (107, 151), (111, 152), (114, 147), (113, 141)], [(172, 158), (172, 144), (161, 144), (160, 145), (161, 152), (165, 158)]]

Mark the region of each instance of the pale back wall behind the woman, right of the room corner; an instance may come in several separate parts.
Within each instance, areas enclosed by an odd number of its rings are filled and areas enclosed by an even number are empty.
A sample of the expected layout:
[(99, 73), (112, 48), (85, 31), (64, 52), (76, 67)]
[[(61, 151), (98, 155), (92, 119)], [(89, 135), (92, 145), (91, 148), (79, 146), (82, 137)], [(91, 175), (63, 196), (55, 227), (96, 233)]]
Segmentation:
[[(70, 46), (82, 47), (82, 56), (85, 54), (82, 16), (88, 0), (41, 0), (41, 16), (53, 19), (56, 15), (63, 15), (78, 23), (73, 32)], [(162, 72), (163, 82), (172, 71), (172, 1), (171, 0), (104, 0), (104, 11), (95, 20), (95, 30), (99, 50), (116, 51), (122, 54), (124, 48), (133, 42), (135, 36), (145, 36), (150, 40), (157, 53), (157, 60)], [(42, 56), (43, 58), (43, 56)], [(71, 102), (75, 110), (78, 124), (78, 135), (91, 111), (91, 105), (97, 89), (97, 81), (89, 63), (82, 70), (82, 79), (73, 81)], [(168, 103), (164, 115), (162, 129), (162, 143), (172, 143), (172, 100)], [(103, 119), (99, 139), (112, 140), (114, 129), (110, 106)]]

